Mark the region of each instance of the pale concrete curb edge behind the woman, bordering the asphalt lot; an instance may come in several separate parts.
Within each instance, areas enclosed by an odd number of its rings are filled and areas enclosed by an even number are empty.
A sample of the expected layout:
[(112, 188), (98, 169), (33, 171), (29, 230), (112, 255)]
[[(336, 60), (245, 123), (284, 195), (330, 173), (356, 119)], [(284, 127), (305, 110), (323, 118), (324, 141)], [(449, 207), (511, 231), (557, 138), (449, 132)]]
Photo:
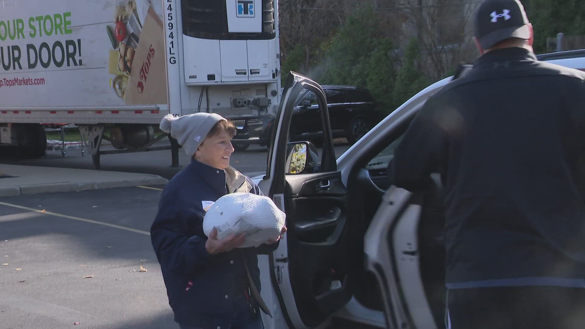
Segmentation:
[(10, 186), (0, 187), (0, 197), (13, 197), (20, 195), (29, 194), (41, 194), (41, 193), (56, 193), (56, 192), (73, 192), (73, 191), (85, 191), (85, 190), (99, 190), (99, 189), (112, 189), (115, 187), (134, 187), (140, 185), (158, 185), (166, 184), (167, 179), (156, 175), (144, 179), (133, 179), (133, 180), (115, 180), (115, 181), (87, 181), (81, 183), (50, 183), (50, 184), (35, 184), (35, 185), (21, 185), (21, 186)]

